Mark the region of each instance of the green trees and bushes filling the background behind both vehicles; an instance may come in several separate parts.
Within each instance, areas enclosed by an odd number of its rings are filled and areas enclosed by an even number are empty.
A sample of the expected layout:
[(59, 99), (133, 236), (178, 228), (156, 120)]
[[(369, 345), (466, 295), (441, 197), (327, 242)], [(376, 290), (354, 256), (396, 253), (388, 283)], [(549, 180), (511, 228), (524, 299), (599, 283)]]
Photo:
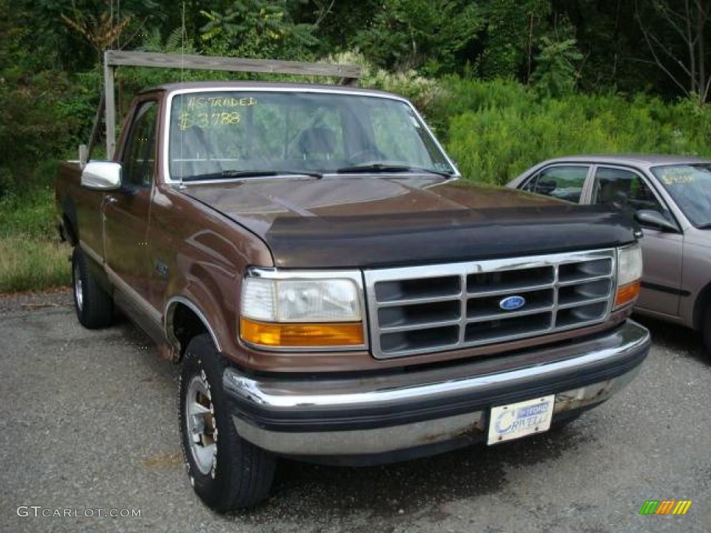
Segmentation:
[[(465, 178), (484, 183), (562, 154), (711, 156), (711, 0), (0, 0), (0, 11), (0, 291), (68, 281), (51, 183), (87, 141), (109, 47), (356, 63), (363, 86), (412, 99)], [(146, 86), (235, 77), (274, 79), (124, 68), (119, 113)]]

